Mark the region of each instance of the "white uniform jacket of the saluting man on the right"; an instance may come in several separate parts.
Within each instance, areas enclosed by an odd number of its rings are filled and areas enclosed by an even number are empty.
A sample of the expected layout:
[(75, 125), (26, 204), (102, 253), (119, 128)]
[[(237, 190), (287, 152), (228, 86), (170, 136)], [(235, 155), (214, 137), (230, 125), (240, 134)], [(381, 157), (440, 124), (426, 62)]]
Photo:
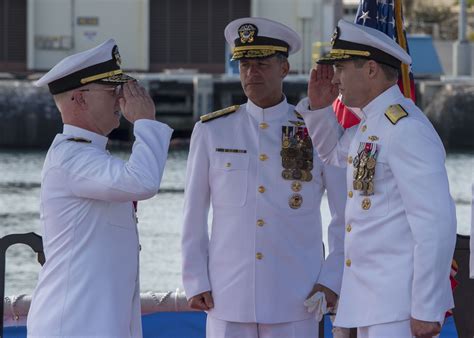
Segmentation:
[[(400, 104), (408, 116), (384, 115)], [(359, 125), (339, 138), (330, 107), (304, 116), (321, 159), (347, 165), (345, 266), (336, 326), (407, 320), (443, 321), (453, 307), (449, 282), (456, 241), (445, 151), (426, 116), (393, 86), (361, 110)], [(377, 146), (374, 194), (353, 189), (361, 143)]]

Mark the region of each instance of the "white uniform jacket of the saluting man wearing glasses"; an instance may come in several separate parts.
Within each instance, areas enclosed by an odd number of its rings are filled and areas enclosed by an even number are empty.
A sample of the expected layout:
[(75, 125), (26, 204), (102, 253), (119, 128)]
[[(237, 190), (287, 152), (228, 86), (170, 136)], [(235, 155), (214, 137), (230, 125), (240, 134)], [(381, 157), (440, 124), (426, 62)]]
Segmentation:
[(56, 136), (42, 171), (46, 263), (28, 336), (142, 336), (132, 201), (157, 193), (171, 132), (159, 122), (136, 121), (128, 162), (111, 156), (107, 138), (93, 132), (65, 125)]

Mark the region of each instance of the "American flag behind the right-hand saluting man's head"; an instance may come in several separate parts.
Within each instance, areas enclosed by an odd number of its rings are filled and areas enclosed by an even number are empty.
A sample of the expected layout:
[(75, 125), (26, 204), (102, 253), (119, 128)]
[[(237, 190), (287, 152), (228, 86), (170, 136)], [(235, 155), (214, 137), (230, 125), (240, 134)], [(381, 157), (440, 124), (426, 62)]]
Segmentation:
[[(375, 28), (395, 40), (407, 53), (408, 44), (403, 28), (402, 0), (361, 0), (355, 23)], [(415, 85), (409, 66), (403, 64), (398, 85), (405, 97), (415, 100)], [(359, 118), (336, 100), (333, 104), (339, 123), (350, 128), (360, 122)]]

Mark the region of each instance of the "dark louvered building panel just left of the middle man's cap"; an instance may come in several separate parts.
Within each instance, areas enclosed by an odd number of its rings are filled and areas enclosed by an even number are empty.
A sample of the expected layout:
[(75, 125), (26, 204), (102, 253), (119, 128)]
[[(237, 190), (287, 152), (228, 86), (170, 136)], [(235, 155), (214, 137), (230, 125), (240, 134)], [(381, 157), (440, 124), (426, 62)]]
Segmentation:
[(224, 28), (250, 16), (250, 0), (150, 0), (150, 71), (223, 73)]

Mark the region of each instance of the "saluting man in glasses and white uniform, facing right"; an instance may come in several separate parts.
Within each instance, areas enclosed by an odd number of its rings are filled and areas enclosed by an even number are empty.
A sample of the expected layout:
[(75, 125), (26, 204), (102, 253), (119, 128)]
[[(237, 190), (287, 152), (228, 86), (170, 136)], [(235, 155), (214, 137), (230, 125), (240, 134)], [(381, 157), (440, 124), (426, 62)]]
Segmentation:
[[(65, 58), (36, 82), (49, 86), (64, 130), (41, 174), (46, 263), (29, 337), (142, 337), (133, 201), (157, 193), (172, 130), (155, 121), (153, 101), (120, 61), (110, 39)], [(106, 150), (120, 111), (135, 135), (128, 161)]]

